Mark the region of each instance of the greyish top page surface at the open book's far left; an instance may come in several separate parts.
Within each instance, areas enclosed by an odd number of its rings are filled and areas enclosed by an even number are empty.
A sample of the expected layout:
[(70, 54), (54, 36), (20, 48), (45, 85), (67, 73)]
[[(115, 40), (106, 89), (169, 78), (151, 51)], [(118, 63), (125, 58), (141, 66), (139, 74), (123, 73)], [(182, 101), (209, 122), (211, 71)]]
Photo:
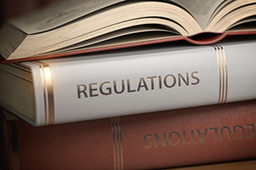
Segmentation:
[(11, 23), (27, 34), (34, 34), (48, 31), (122, 1), (125, 0), (64, 0), (42, 8), (34, 14), (27, 14), (16, 20), (11, 20)]

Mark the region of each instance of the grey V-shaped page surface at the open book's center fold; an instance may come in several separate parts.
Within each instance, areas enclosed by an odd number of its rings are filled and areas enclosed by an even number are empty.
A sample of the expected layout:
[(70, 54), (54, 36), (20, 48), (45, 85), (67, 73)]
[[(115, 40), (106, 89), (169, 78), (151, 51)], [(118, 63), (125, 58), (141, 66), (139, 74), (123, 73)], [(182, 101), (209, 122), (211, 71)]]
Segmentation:
[(207, 27), (207, 22), (210, 20), (213, 12), (220, 3), (224, 0), (176, 0), (177, 3), (183, 4), (195, 16), (201, 28), (204, 30)]

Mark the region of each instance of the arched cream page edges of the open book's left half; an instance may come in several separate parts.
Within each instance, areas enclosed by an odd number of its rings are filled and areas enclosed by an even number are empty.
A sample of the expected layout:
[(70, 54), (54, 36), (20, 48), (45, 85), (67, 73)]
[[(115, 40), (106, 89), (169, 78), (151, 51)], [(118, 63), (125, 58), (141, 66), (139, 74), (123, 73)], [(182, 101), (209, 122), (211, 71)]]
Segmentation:
[[(148, 12), (149, 9), (152, 10)], [(106, 16), (108, 16), (108, 20), (106, 20)], [(167, 20), (174, 17), (176, 17), (175, 21)], [(201, 31), (200, 26), (190, 14), (172, 3), (127, 2), (57, 29), (29, 35), (9, 58), (18, 59), (48, 53), (112, 31), (137, 25), (164, 26), (167, 27), (167, 31), (170, 28), (175, 28), (183, 36)], [(171, 35), (173, 36), (173, 33)]]

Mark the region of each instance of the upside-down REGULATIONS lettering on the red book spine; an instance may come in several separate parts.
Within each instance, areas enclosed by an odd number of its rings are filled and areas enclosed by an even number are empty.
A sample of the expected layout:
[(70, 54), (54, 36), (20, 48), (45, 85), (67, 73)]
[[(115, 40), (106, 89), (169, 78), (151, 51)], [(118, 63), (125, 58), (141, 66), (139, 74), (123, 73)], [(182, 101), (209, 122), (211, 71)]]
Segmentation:
[[(145, 149), (158, 147), (176, 147), (179, 144), (201, 144), (206, 142), (223, 142), (230, 140), (249, 140), (254, 138), (254, 124), (246, 124), (244, 126), (234, 125), (231, 127), (211, 127), (197, 130), (187, 130), (182, 132), (173, 131), (171, 133), (162, 133), (161, 135), (154, 133), (147, 134), (143, 137)], [(218, 138), (219, 135), (219, 138)], [(214, 138), (212, 138), (214, 137)], [(167, 138), (167, 139), (166, 139)], [(151, 139), (151, 140), (149, 140)], [(189, 139), (189, 141), (188, 141)], [(197, 140), (199, 139), (199, 141)], [(182, 143), (181, 143), (182, 141)]]

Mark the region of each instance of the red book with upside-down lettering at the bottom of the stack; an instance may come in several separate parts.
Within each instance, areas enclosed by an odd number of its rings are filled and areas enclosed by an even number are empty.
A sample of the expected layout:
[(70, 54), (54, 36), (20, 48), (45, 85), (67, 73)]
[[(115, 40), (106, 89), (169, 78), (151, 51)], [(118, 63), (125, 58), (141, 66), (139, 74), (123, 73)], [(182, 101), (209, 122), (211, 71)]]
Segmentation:
[[(12, 146), (26, 170), (153, 169), (255, 158), (255, 123), (255, 100), (47, 127), (6, 121), (8, 129), (15, 125)], [(9, 131), (9, 139), (15, 133)]]

